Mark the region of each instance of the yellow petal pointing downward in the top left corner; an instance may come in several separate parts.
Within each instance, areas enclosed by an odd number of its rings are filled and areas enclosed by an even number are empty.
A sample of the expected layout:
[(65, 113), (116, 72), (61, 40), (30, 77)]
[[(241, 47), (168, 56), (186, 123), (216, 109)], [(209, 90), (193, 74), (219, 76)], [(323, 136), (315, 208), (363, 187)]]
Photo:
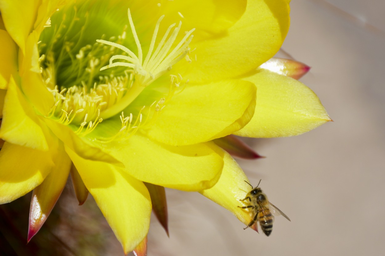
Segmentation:
[(39, 0), (3, 0), (0, 1), (0, 12), (5, 28), (24, 53), (25, 41), (33, 30), (37, 16)]

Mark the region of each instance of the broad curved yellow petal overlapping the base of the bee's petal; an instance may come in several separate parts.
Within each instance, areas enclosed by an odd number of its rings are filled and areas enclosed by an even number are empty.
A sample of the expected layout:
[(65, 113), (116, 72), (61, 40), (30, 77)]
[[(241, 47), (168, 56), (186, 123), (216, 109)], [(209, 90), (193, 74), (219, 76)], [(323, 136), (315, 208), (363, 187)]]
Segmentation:
[(138, 180), (184, 191), (210, 188), (221, 175), (221, 150), (213, 143), (169, 146), (135, 134), (129, 140), (112, 142), (109, 153)]

